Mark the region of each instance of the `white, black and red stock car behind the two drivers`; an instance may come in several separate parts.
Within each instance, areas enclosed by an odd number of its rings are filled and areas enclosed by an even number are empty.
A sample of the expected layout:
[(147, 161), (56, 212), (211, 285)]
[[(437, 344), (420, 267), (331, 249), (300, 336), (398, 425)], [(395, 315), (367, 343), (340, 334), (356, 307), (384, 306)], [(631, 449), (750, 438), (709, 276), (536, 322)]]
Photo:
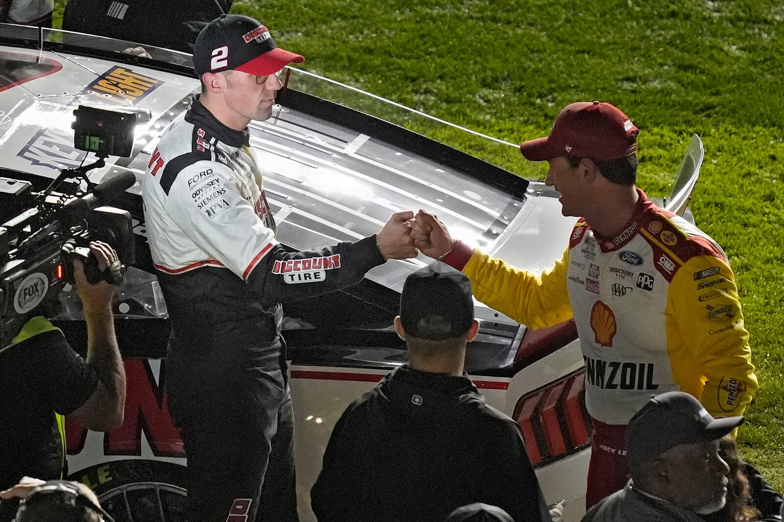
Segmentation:
[[(198, 80), (189, 55), (150, 48), (147, 60), (118, 53), (129, 46), (0, 24), (0, 176), (42, 188), (59, 169), (80, 165), (86, 153), (74, 148), (72, 111), (89, 103), (138, 115), (132, 157), (109, 158), (90, 178), (131, 171), (139, 179), (162, 130), (198, 92)], [(290, 71), (287, 81), (297, 90), (285, 89), (273, 118), (251, 126), (282, 244), (303, 249), (355, 240), (377, 232), (392, 212), (425, 208), (456, 237), (525, 269), (543, 270), (561, 256), (574, 219), (561, 216), (550, 187), (390, 121), (442, 127), (472, 147), (519, 155), (510, 143), (303, 71)], [(344, 105), (325, 96), (339, 96)], [(666, 208), (684, 212), (701, 161), (695, 136)], [(95, 488), (118, 522), (183, 520), (185, 459), (162, 382), (169, 326), (144, 237), (139, 183), (114, 205), (132, 213), (137, 240), (135, 268), (114, 303), (128, 374), (125, 422), (107, 434), (67, 422), (69, 469), (71, 478)], [(392, 320), (405, 277), (426, 263), (424, 257), (386, 263), (358, 285), (285, 307), (303, 522), (314, 520), (310, 487), (339, 415), (405, 362)], [(57, 324), (83, 352), (85, 325), (73, 291), (63, 300)], [(567, 322), (528, 331), (479, 303), (476, 310), (481, 329), (467, 353), (470, 377), (488, 404), (520, 424), (547, 501), (565, 499), (565, 519), (579, 520), (590, 419), (575, 328)]]

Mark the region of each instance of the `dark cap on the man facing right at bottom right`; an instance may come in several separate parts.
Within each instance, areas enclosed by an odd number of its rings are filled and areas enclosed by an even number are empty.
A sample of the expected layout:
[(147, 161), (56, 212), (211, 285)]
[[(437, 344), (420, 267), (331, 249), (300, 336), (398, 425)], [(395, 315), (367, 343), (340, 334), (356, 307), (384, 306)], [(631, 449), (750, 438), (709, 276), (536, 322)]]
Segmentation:
[(684, 392), (651, 397), (629, 422), (626, 459), (648, 462), (681, 444), (710, 442), (740, 426), (744, 417), (713, 417), (699, 401)]

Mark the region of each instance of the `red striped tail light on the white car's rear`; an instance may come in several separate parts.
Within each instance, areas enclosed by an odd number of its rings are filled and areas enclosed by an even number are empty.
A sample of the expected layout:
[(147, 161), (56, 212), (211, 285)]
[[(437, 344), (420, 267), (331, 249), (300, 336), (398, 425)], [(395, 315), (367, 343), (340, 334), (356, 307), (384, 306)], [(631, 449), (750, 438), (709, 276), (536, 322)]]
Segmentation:
[(585, 406), (585, 368), (539, 390), (526, 393), (514, 407), (528, 458), (544, 466), (587, 448), (590, 417)]

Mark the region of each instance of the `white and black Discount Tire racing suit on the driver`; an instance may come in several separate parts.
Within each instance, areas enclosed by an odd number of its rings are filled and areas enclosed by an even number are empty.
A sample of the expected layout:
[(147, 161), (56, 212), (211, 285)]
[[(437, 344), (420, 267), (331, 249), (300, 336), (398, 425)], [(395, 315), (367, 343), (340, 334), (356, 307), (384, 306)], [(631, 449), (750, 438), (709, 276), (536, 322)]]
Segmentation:
[[(143, 179), (172, 334), (165, 387), (188, 458), (188, 520), (297, 520), (281, 303), (352, 285), (384, 262), (376, 237), (288, 252), (249, 131), (194, 100)], [(269, 461), (269, 466), (267, 462)], [(265, 480), (266, 473), (266, 480)], [(262, 485), (263, 484), (263, 485)]]

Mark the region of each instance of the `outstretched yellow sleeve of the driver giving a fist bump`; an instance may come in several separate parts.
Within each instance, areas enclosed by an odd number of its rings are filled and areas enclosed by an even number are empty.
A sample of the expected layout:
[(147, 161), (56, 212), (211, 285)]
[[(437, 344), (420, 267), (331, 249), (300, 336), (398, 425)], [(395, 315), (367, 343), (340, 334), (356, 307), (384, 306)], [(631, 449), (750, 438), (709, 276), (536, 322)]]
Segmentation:
[(547, 328), (572, 318), (566, 292), (568, 249), (555, 266), (536, 275), (476, 250), (463, 272), (474, 296), (528, 328)]

